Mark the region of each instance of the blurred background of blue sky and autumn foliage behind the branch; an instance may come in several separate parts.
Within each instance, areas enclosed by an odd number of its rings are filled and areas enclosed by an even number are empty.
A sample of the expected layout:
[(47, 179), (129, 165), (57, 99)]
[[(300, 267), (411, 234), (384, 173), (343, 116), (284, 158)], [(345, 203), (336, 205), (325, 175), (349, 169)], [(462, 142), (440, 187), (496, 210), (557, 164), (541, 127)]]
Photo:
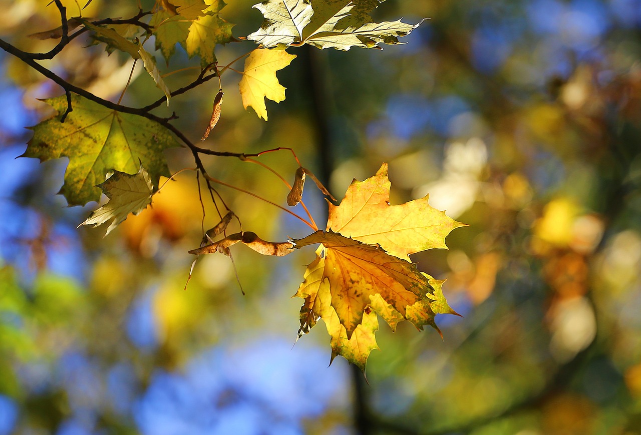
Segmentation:
[[(235, 37), (260, 26), (255, 1), (222, 10)], [(60, 24), (44, 3), (1, 1), (1, 37), (51, 49), (26, 37)], [(135, 13), (134, 2), (94, 1), (83, 15)], [(290, 297), (312, 250), (269, 258), (237, 246), (235, 268), (203, 256), (183, 291), (203, 225), (190, 171), (106, 238), (76, 229), (96, 204), (66, 208), (55, 195), (67, 161), (16, 159), (24, 127), (51, 115), (36, 99), (62, 92), (0, 53), (0, 435), (641, 434), (641, 1), (387, 0), (373, 17), (429, 20), (383, 51), (290, 49), (298, 57), (278, 73), (287, 100), (267, 103), (269, 122), (242, 108), (228, 71), (203, 144), (292, 147), (338, 199), (387, 161), (392, 203), (429, 193), (469, 224), (449, 250), (413, 256), (448, 280), (463, 315), (437, 316), (444, 340), (381, 324), (369, 385), (342, 358), (328, 367), (324, 326), (294, 345), (302, 300)], [(78, 38), (43, 63), (117, 100), (131, 59), (88, 45)], [(253, 47), (216, 54), (225, 65)], [(169, 65), (155, 54), (163, 73), (199, 65), (180, 47)], [(141, 69), (124, 104), (162, 96)], [(176, 89), (197, 74), (165, 81)], [(154, 113), (175, 111), (200, 143), (213, 82)], [(194, 166), (183, 149), (167, 158), (172, 172)], [(287, 187), (265, 168), (204, 161), (285, 205)], [(290, 153), (260, 161), (293, 180)], [(254, 197), (219, 193), (266, 240), (310, 232)], [(308, 186), (303, 198), (324, 228), (322, 196)]]

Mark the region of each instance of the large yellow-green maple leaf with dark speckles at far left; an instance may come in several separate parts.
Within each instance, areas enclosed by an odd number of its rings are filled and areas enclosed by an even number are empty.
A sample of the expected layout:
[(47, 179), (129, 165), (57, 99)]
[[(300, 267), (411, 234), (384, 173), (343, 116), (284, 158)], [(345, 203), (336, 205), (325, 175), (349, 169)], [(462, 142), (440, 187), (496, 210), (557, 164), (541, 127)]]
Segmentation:
[(105, 108), (72, 94), (73, 111), (60, 122), (67, 110), (65, 96), (44, 100), (58, 111), (33, 129), (33, 138), (22, 157), (40, 161), (69, 158), (65, 183), (60, 189), (70, 206), (99, 201), (106, 174), (117, 170), (136, 174), (142, 164), (154, 186), (160, 176), (169, 176), (163, 150), (178, 147), (167, 128), (139, 115)]

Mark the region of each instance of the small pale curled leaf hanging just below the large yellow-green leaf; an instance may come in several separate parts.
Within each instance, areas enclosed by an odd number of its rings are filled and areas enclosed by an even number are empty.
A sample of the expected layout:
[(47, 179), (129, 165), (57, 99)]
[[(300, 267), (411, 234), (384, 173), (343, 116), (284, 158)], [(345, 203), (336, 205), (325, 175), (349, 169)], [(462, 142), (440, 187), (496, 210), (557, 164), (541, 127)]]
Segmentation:
[[(99, 226), (111, 222), (105, 236), (112, 232), (129, 213), (137, 215), (151, 204), (151, 195), (154, 185), (151, 177), (142, 166), (137, 174), (129, 175), (124, 172), (114, 171), (113, 175), (104, 183), (98, 185), (109, 198), (104, 204), (89, 215), (81, 225)], [(79, 227), (78, 226), (78, 227)]]

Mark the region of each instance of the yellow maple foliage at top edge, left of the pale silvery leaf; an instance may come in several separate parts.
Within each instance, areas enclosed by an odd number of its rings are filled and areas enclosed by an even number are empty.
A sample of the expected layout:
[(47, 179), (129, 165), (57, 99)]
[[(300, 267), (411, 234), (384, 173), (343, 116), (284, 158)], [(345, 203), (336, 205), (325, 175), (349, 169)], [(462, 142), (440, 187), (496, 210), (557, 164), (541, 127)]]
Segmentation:
[(158, 10), (149, 22), (154, 26), (156, 49), (169, 61), (176, 44), (180, 44), (190, 58), (200, 56), (203, 65), (215, 62), (216, 44), (234, 40), (231, 35), (233, 24), (219, 15), (225, 5), (222, 0), (171, 1), (171, 10)]

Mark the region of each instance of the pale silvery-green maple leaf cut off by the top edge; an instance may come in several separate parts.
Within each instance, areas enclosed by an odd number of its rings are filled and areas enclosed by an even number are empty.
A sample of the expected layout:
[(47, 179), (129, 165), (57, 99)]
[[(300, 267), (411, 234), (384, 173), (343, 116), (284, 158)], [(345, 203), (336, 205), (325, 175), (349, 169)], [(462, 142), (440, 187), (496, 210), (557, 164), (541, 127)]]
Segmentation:
[(398, 38), (420, 25), (399, 21), (372, 22), (369, 11), (379, 0), (267, 0), (254, 4), (265, 17), (261, 28), (247, 36), (262, 47), (310, 44), (333, 47), (377, 47), (400, 44)]

